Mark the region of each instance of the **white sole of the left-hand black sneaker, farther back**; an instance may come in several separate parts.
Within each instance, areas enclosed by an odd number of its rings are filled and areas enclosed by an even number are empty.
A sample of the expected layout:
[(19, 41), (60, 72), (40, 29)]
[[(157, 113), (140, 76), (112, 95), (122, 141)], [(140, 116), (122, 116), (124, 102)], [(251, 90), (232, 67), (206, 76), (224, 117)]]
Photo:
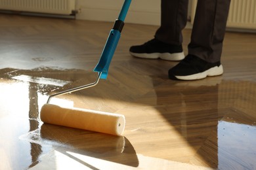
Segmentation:
[(164, 59), (164, 60), (167, 60), (167, 61), (180, 61), (181, 59), (185, 58), (184, 52), (178, 52), (178, 53), (173, 53), (173, 54), (170, 54), (168, 52), (166, 52), (166, 53), (156, 52), (156, 53), (152, 53), (152, 54), (146, 54), (146, 53), (140, 54), (140, 53), (130, 52), (130, 54), (132, 56), (137, 57), (137, 58), (146, 58), (146, 59), (161, 58), (161, 59)]

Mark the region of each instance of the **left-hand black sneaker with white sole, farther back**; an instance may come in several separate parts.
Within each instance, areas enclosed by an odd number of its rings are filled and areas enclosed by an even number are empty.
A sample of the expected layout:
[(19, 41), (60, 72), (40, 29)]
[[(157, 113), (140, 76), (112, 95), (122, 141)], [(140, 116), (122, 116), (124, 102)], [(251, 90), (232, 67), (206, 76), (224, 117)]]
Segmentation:
[(137, 58), (161, 58), (169, 61), (179, 61), (184, 58), (182, 45), (170, 45), (156, 39), (139, 46), (131, 46), (130, 53)]

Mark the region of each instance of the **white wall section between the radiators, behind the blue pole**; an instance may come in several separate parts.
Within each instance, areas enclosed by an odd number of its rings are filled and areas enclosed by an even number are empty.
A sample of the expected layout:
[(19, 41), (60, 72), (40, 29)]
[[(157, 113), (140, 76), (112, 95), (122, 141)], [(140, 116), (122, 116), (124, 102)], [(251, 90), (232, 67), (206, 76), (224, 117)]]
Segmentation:
[[(114, 22), (119, 15), (123, 0), (77, 0), (77, 20)], [(160, 0), (133, 0), (126, 23), (160, 25)]]

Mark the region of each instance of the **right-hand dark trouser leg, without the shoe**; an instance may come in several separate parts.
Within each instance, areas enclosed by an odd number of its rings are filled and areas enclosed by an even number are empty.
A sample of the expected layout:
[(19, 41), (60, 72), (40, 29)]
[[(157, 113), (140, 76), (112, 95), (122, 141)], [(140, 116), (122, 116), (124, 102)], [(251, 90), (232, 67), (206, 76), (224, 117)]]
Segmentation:
[(230, 0), (198, 0), (188, 54), (214, 63), (221, 60)]

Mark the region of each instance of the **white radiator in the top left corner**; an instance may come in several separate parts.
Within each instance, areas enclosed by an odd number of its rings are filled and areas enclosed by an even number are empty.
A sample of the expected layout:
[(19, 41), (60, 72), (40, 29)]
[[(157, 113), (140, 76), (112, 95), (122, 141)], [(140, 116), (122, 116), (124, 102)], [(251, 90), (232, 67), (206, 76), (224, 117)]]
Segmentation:
[(0, 0), (0, 9), (68, 15), (75, 10), (75, 0)]

